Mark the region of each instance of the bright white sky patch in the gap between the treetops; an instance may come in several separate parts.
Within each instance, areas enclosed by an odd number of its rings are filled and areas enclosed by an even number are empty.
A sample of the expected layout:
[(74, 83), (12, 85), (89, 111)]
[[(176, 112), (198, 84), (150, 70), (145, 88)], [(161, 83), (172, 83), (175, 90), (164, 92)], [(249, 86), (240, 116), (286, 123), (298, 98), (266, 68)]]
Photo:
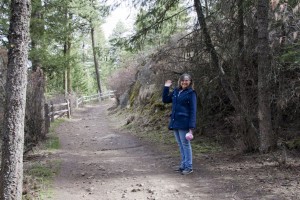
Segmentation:
[(129, 30), (132, 30), (134, 17), (135, 12), (132, 9), (124, 5), (118, 7), (107, 17), (106, 23), (101, 26), (105, 37), (108, 38), (118, 21), (122, 21)]

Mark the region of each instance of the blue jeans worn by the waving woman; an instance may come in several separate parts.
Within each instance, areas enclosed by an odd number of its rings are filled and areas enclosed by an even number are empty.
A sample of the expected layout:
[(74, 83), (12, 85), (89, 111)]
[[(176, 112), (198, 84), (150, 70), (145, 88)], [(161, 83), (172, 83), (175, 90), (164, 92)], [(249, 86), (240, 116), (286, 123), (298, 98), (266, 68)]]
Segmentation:
[(189, 130), (174, 130), (174, 135), (179, 146), (181, 156), (181, 169), (193, 169), (191, 142), (185, 139)]

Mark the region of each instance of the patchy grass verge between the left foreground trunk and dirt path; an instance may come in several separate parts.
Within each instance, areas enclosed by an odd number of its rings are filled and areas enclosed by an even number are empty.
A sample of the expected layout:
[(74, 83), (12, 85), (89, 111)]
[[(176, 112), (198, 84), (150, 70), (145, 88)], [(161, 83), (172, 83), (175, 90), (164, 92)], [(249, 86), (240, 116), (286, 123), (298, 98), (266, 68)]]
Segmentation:
[(59, 159), (50, 159), (60, 148), (55, 129), (64, 122), (57, 119), (50, 126), (46, 140), (24, 155), (23, 200), (51, 197), (52, 182), (60, 170)]

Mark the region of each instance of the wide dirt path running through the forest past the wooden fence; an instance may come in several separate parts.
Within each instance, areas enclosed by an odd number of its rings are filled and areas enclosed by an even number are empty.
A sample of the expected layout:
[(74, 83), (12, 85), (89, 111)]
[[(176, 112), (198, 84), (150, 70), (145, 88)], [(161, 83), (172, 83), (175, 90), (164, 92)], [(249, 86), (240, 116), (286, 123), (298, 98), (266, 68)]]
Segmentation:
[[(85, 106), (57, 128), (62, 147), (56, 159), (62, 163), (54, 200), (261, 199), (253, 191), (245, 194), (232, 174), (212, 172), (201, 162), (193, 174), (174, 172), (177, 156), (159, 153), (114, 128), (121, 122), (109, 119), (110, 104)], [(277, 198), (268, 194), (262, 199)]]

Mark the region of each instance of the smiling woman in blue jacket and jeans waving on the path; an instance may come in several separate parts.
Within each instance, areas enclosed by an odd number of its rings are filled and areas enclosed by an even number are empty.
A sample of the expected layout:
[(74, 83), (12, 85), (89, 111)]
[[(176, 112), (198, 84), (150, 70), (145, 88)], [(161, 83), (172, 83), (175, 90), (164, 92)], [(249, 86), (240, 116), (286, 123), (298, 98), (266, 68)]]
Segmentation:
[(183, 74), (178, 81), (178, 87), (170, 93), (171, 80), (165, 82), (163, 102), (172, 103), (172, 114), (169, 129), (174, 131), (179, 146), (181, 163), (176, 171), (187, 175), (193, 172), (191, 142), (186, 134), (193, 134), (196, 127), (197, 97), (193, 89), (193, 80), (189, 74)]

